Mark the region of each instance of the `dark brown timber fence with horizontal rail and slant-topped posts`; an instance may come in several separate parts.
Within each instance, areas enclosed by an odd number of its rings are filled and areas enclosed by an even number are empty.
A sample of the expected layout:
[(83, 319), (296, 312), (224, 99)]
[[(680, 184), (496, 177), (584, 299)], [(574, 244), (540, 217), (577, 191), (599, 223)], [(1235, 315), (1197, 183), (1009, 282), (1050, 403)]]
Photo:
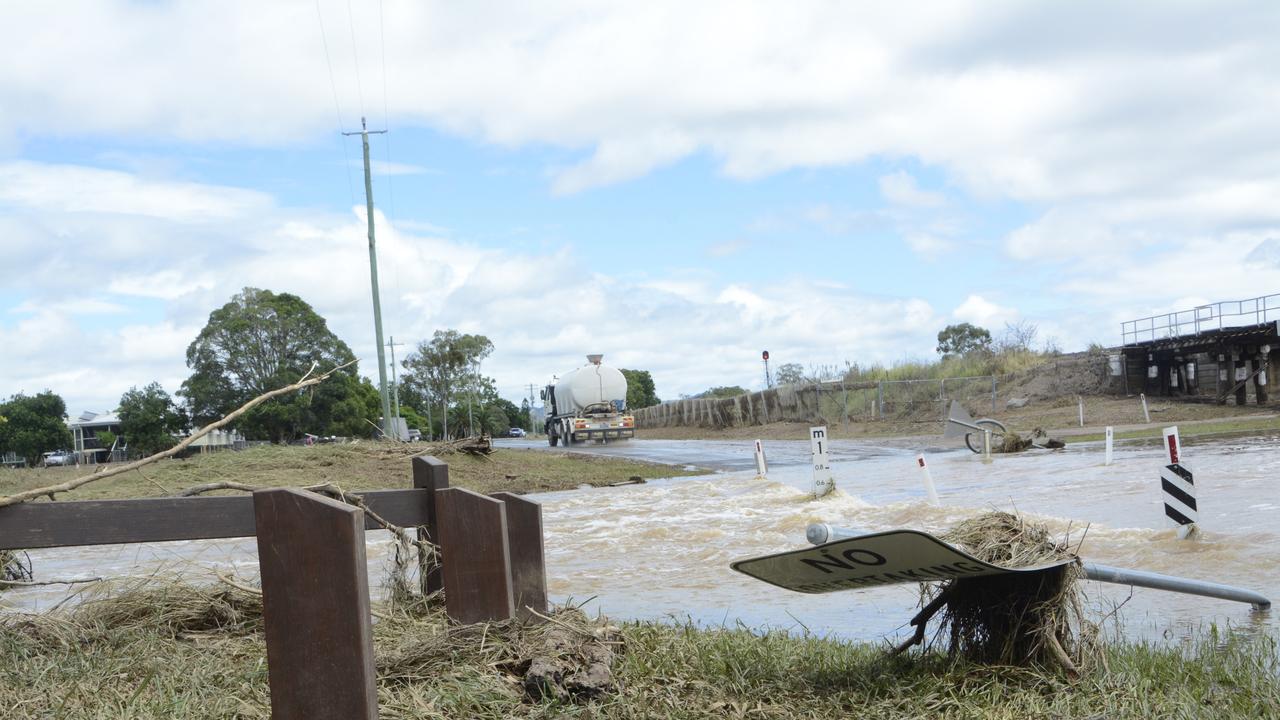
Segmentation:
[[(0, 507), (0, 550), (256, 537), (274, 720), (372, 720), (376, 684), (365, 533), (371, 515), (436, 544), (419, 557), (424, 594), (444, 591), (461, 623), (536, 621), (547, 611), (541, 507), (511, 493), (449, 488), (448, 465), (412, 459), (413, 488), (351, 493), (361, 507), (297, 488), (252, 496), (22, 502)], [(328, 582), (316, 583), (317, 577)]]

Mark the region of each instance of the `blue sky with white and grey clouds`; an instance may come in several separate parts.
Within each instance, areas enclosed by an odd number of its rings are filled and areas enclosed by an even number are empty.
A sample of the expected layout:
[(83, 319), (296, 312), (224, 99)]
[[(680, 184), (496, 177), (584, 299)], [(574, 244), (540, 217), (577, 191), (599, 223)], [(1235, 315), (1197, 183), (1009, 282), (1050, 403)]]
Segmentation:
[(0, 0), (0, 396), (188, 375), (244, 287), (376, 379), (494, 343), (672, 398), (774, 365), (1065, 351), (1280, 293), (1275, 3)]

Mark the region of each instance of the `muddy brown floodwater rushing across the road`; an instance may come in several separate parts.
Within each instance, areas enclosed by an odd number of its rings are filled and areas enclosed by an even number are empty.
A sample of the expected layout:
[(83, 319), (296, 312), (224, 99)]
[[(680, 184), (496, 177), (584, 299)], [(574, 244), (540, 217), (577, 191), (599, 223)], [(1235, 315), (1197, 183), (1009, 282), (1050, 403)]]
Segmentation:
[[(593, 452), (691, 462), (716, 474), (641, 486), (532, 496), (543, 503), (553, 600), (586, 602), (614, 618), (691, 619), (704, 625), (809, 629), (858, 639), (895, 637), (914, 614), (915, 585), (809, 596), (732, 571), (744, 557), (805, 547), (809, 523), (863, 530), (941, 532), (991, 509), (1016, 509), (1079, 543), (1087, 560), (1247, 587), (1280, 601), (1280, 437), (1187, 441), (1202, 534), (1179, 541), (1165, 525), (1158, 445), (1120, 443), (1110, 466), (1101, 443), (996, 456), (929, 454), (942, 507), (924, 500), (915, 450), (905, 443), (832, 443), (838, 489), (809, 495), (808, 442), (771, 442), (768, 479), (756, 478), (749, 442), (635, 441)], [(376, 584), (385, 533), (370, 533)], [(32, 552), (41, 577), (137, 575), (196, 566), (256, 573), (255, 543), (202, 541)], [(1096, 616), (1119, 610), (1130, 637), (1180, 638), (1210, 623), (1236, 632), (1276, 629), (1248, 605), (1085, 583)], [(4, 602), (42, 609), (61, 588), (9, 591)]]

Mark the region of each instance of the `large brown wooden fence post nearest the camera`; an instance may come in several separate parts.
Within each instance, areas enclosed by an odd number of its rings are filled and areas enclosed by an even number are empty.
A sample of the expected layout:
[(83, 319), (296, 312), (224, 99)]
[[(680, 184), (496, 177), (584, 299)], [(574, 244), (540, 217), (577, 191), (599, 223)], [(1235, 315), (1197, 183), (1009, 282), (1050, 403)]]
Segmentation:
[(375, 720), (365, 512), (293, 489), (253, 492), (273, 720)]

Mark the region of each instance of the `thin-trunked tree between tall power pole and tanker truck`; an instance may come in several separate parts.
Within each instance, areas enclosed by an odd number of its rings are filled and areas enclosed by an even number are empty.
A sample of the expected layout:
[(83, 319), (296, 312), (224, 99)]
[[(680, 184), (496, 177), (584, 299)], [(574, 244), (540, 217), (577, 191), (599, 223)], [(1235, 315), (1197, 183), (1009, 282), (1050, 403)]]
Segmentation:
[[(463, 334), (458, 331), (435, 331), (430, 341), (419, 343), (417, 350), (404, 357), (402, 383), (426, 402), (435, 402), (443, 410), (444, 436), (449, 436), (449, 421), (457, 425), (458, 415), (451, 415), (449, 405), (462, 392), (485, 395), (492, 391), (493, 382), (480, 378), (480, 361), (493, 352), (493, 342), (483, 334)], [(488, 382), (484, 382), (488, 380)], [(493, 392), (497, 397), (497, 392)], [(472, 418), (483, 413), (472, 402)], [(463, 421), (466, 406), (462, 405)]]

